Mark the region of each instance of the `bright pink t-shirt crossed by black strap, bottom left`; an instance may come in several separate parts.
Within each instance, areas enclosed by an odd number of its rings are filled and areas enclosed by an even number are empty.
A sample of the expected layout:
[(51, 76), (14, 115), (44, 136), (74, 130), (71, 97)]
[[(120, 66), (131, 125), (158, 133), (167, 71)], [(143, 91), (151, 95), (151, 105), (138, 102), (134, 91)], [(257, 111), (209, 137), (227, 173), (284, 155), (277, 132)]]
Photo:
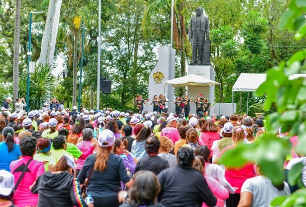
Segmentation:
[[(30, 159), (33, 158), (24, 156), (21, 159), (12, 161), (10, 163), (9, 168), (10, 172), (14, 176), (15, 184), (17, 183), (23, 170), (21, 165), (24, 164), (25, 166)], [(38, 194), (32, 194), (29, 187), (34, 183), (38, 176), (45, 172), (43, 163), (36, 160), (32, 160), (27, 168), (29, 172), (25, 172), (13, 198), (14, 204), (18, 207), (37, 206)]]

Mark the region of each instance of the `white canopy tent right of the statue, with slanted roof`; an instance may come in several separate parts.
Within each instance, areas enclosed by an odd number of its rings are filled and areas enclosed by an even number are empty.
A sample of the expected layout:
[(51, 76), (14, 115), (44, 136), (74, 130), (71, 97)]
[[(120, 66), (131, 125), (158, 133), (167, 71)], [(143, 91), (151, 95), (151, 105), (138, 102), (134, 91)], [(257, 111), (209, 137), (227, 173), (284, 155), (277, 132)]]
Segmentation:
[(266, 80), (265, 73), (240, 73), (232, 89), (232, 105), (234, 112), (234, 92), (248, 92), (247, 100), (247, 114), (249, 112), (249, 92), (256, 91), (256, 89)]

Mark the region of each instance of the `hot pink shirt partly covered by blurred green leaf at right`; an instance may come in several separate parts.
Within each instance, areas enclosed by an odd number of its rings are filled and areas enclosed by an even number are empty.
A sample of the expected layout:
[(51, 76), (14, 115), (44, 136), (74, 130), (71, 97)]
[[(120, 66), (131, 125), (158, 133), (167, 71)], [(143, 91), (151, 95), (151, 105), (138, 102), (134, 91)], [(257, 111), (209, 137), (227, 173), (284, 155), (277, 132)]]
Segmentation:
[[(221, 156), (223, 153), (231, 148), (234, 148), (235, 145), (227, 146), (221, 152)], [(226, 168), (225, 169), (225, 179), (231, 184), (231, 186), (237, 187), (236, 194), (240, 194), (242, 184), (245, 180), (249, 178), (253, 178), (255, 175), (254, 165), (252, 163), (245, 164), (241, 168)]]

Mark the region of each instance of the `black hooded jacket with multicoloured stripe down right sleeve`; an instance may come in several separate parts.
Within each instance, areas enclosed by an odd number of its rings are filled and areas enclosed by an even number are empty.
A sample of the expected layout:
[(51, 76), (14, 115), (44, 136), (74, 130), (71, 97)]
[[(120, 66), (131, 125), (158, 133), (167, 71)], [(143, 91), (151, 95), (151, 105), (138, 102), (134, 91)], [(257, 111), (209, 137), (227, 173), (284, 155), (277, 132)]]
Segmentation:
[(87, 207), (81, 198), (79, 181), (68, 172), (44, 173), (31, 192), (38, 193), (37, 207)]

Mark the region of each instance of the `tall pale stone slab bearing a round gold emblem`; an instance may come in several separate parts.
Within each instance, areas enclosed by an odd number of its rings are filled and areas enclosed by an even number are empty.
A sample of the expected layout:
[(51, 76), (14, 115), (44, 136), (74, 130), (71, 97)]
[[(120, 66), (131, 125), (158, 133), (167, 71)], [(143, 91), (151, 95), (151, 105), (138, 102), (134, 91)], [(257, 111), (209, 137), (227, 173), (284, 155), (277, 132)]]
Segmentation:
[[(149, 106), (144, 105), (144, 111), (152, 112), (153, 105), (150, 103), (153, 96), (165, 94), (166, 98), (171, 100), (168, 103), (168, 113), (174, 112), (174, 88), (171, 85), (165, 85), (165, 81), (171, 80), (175, 75), (175, 49), (171, 47), (159, 47), (158, 62), (149, 76), (149, 99), (147, 103)], [(145, 97), (146, 98), (146, 97)]]

